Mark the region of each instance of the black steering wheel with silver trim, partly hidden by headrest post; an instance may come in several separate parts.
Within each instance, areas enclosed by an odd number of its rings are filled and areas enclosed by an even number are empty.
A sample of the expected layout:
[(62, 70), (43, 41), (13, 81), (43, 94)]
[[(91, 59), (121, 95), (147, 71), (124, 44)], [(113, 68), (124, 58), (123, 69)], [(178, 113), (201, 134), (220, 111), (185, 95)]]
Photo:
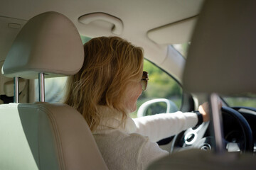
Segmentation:
[[(225, 129), (230, 128), (230, 123), (239, 127), (239, 130), (233, 130), (225, 135), (225, 148), (228, 152), (253, 152), (252, 130), (247, 120), (233, 108), (222, 107), (221, 111), (223, 113), (224, 132)], [(235, 140), (236, 137), (240, 140)], [(203, 123), (196, 128), (189, 128), (176, 135), (171, 145), (171, 153), (189, 148), (210, 150), (213, 147), (212, 141), (213, 137), (209, 135), (209, 123)]]

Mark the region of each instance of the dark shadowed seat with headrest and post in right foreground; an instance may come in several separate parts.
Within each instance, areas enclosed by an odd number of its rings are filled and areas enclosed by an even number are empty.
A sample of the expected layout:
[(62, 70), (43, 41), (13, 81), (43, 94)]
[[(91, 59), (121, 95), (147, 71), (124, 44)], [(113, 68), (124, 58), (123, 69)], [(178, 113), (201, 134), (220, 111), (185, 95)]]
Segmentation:
[(216, 149), (171, 154), (151, 164), (149, 170), (255, 169), (256, 157), (251, 153), (227, 153), (218, 148), (223, 137), (215, 98), (215, 93), (256, 94), (255, 8), (254, 0), (205, 1), (188, 51), (183, 85), (191, 93), (210, 96)]

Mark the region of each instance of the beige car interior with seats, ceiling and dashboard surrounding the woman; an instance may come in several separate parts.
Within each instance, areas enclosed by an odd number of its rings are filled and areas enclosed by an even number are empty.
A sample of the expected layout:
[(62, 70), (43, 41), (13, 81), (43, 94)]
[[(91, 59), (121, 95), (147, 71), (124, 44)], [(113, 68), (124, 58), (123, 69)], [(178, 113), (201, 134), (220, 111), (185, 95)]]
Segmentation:
[(108, 169), (82, 115), (61, 101), (66, 77), (82, 67), (83, 43), (99, 36), (144, 49), (149, 88), (131, 117), (210, 103), (210, 122), (159, 141), (170, 156), (149, 169), (255, 169), (255, 7), (252, 0), (2, 1), (0, 169)]

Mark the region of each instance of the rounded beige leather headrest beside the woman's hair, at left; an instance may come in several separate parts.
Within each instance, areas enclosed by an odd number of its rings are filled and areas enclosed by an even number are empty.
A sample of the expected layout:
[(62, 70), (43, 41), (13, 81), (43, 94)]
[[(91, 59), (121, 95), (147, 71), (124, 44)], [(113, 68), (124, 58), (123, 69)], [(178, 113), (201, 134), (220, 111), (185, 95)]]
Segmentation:
[(18, 33), (2, 73), (6, 77), (38, 79), (73, 75), (82, 67), (82, 40), (74, 24), (57, 12), (31, 18)]

